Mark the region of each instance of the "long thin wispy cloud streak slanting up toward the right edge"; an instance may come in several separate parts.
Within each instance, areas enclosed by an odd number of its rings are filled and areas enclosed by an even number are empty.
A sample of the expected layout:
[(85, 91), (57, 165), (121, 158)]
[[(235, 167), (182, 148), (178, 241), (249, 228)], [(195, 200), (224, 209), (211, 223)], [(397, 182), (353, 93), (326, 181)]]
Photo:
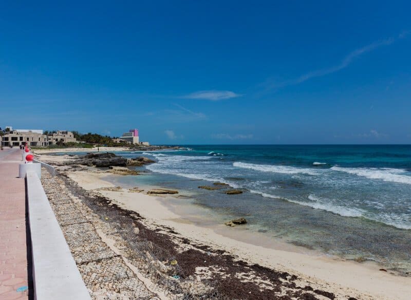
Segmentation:
[(380, 40), (380, 41), (371, 43), (365, 47), (362, 47), (360, 49), (354, 50), (351, 53), (349, 53), (339, 64), (334, 65), (332, 67), (314, 70), (314, 71), (305, 73), (298, 78), (286, 80), (282, 82), (272, 82), (272, 80), (268, 80), (263, 85), (266, 86), (266, 90), (279, 89), (279, 88), (289, 86), (289, 85), (300, 84), (312, 78), (322, 77), (322, 76), (325, 76), (331, 73), (338, 72), (348, 67), (355, 59), (360, 57), (362, 54), (371, 52), (372, 50), (375, 50), (383, 46), (391, 45), (395, 41), (399, 39), (403, 39), (408, 34), (409, 34), (409, 31), (404, 31), (401, 34), (399, 34), (397, 37), (389, 37), (388, 39)]

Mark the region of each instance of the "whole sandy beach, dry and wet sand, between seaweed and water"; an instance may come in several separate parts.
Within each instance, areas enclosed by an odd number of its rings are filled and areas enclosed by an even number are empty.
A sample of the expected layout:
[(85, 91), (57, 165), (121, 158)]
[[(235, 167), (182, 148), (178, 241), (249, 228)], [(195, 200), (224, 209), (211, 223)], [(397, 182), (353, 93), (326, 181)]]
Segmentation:
[[(69, 156), (45, 154), (39, 158), (51, 164), (70, 159)], [(278, 243), (263, 235), (249, 234), (240, 227), (229, 228), (223, 224), (199, 226), (195, 221), (199, 216), (193, 218), (184, 214), (184, 209), (178, 207), (178, 198), (169, 195), (147, 195), (147, 189), (154, 187), (144, 186), (145, 191), (140, 193), (129, 192), (127, 189), (109, 191), (101, 189), (115, 187), (113, 183), (105, 180), (108, 175), (106, 172), (64, 171), (64, 167), (59, 168), (83, 189), (107, 197), (125, 210), (138, 212), (144, 217), (144, 223), (148, 227), (155, 228), (161, 224), (173, 228), (178, 236), (231, 253), (249, 263), (296, 274), (302, 286), (325, 289), (341, 299), (350, 295), (357, 299), (405, 300), (411, 294), (411, 278), (381, 271), (377, 264), (360, 264), (321, 255), (286, 243)], [(173, 234), (170, 236), (174, 237)]]

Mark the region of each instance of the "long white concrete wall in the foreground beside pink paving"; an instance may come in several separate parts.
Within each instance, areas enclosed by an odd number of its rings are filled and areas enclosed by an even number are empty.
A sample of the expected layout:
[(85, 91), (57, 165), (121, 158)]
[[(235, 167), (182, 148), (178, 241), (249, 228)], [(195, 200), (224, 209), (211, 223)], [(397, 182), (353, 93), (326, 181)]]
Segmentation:
[(90, 300), (39, 177), (27, 172), (35, 300)]

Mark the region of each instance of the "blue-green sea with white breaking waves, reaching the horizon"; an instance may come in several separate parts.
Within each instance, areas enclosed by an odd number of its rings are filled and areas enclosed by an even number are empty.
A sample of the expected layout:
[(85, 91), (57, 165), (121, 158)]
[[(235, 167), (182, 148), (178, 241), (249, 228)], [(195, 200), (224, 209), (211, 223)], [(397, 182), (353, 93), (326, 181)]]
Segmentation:
[[(411, 271), (411, 145), (185, 147), (143, 153), (157, 163), (124, 183), (183, 189), (216, 215), (246, 216), (250, 230)], [(245, 192), (198, 189), (213, 182)]]

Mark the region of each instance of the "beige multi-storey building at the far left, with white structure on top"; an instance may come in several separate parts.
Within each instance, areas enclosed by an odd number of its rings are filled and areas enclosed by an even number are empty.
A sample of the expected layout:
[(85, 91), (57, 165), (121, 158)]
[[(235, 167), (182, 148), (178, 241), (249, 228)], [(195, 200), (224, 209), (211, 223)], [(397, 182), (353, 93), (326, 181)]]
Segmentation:
[(2, 138), (3, 146), (20, 146), (26, 143), (29, 146), (48, 146), (47, 136), (43, 135), (43, 130), (41, 130), (41, 133), (36, 129), (25, 130), (27, 131), (9, 130), (4, 132)]

